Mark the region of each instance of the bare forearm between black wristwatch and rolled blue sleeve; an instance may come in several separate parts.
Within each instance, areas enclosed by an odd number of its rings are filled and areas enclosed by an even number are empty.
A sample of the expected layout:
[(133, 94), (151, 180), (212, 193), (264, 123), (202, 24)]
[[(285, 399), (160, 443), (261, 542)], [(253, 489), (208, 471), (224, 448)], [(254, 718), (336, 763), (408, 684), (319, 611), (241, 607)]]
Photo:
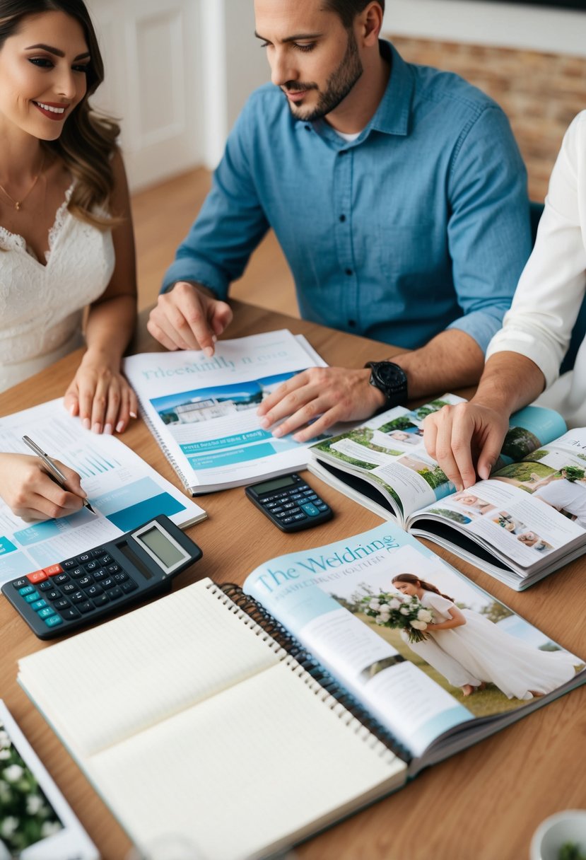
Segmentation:
[(473, 337), (460, 329), (448, 329), (424, 347), (400, 353), (391, 360), (406, 372), (412, 398), (475, 385), (485, 357)]

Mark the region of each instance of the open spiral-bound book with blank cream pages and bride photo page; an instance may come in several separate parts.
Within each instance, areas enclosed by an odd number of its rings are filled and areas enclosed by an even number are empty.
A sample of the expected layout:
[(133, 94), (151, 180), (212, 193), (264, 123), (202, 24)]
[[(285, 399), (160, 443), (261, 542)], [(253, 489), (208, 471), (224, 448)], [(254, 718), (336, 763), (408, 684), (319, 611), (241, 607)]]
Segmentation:
[(400, 789), (586, 671), (386, 522), (273, 558), (243, 588), (198, 581), (21, 659), (18, 679), (137, 845), (173, 832), (194, 855), (244, 860)]

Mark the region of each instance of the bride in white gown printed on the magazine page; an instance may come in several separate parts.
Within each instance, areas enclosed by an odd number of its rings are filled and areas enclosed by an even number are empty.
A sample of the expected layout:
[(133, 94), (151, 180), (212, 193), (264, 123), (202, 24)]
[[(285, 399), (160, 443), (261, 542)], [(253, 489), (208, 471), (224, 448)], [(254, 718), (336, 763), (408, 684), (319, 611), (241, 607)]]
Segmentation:
[(580, 665), (565, 651), (540, 651), (478, 612), (458, 609), (436, 586), (417, 576), (398, 574), (393, 584), (401, 593), (418, 597), (433, 613), (426, 632), (445, 654), (480, 681), (496, 685), (508, 698), (543, 696), (573, 678), (574, 666)]

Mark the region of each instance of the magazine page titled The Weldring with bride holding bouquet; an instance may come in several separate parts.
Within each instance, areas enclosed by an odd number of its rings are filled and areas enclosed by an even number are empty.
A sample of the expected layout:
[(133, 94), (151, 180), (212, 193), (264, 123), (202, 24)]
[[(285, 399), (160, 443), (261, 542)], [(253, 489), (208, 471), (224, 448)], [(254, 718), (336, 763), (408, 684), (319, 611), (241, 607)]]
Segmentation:
[[(272, 559), (244, 591), (416, 757), (450, 729), (508, 715), (582, 667), (391, 523)], [(458, 626), (430, 626), (454, 618)]]

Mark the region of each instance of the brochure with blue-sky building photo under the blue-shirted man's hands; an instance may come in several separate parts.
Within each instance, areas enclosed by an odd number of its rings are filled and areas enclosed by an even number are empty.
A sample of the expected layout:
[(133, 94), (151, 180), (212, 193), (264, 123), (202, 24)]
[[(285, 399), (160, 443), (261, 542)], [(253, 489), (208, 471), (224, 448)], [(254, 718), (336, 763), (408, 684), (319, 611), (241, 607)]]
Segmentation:
[(256, 410), (278, 385), (316, 364), (325, 366), (282, 330), (218, 341), (211, 359), (195, 350), (132, 355), (124, 369), (186, 486), (206, 492), (305, 467), (307, 445), (275, 439)]

